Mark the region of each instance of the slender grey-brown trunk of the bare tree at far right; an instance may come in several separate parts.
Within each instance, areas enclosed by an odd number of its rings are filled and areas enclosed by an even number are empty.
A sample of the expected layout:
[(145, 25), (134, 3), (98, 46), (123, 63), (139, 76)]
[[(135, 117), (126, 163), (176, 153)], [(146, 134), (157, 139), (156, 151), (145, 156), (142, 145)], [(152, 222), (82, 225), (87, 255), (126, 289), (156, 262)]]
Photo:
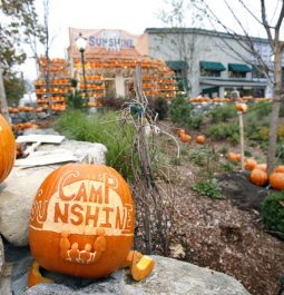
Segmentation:
[(277, 127), (282, 94), (282, 51), (281, 47), (275, 47), (274, 51), (274, 86), (273, 86), (272, 112), (270, 120), (270, 141), (267, 150), (267, 173), (273, 171), (276, 158)]

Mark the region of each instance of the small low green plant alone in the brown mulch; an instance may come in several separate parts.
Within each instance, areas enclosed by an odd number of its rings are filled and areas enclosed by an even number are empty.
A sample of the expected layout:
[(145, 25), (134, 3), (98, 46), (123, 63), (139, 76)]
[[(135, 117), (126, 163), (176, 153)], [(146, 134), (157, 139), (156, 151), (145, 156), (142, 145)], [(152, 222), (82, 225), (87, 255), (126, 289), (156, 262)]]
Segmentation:
[(202, 196), (207, 196), (213, 199), (222, 199), (222, 187), (216, 178), (200, 180), (194, 184), (193, 189)]

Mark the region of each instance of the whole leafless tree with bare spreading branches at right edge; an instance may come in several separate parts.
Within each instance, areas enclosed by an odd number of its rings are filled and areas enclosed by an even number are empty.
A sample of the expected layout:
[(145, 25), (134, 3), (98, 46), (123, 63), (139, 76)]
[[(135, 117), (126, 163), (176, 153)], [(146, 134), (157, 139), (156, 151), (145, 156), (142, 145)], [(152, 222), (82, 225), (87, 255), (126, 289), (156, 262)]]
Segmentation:
[[(223, 0), (223, 3), (227, 8), (229, 16), (226, 18), (233, 18), (238, 24), (237, 29), (233, 29), (227, 26), (224, 21), (223, 16), (214, 11), (213, 1), (206, 0), (190, 0), (199, 11), (203, 12), (205, 18), (212, 23), (212, 28), (222, 28), (227, 35), (235, 40), (239, 47), (249, 52), (258, 68), (265, 73), (270, 80), (273, 88), (273, 100), (272, 100), (272, 112), (270, 118), (270, 137), (268, 137), (268, 150), (267, 150), (267, 171), (272, 173), (275, 165), (275, 154), (276, 154), (276, 140), (277, 140), (277, 125), (278, 125), (278, 114), (281, 107), (281, 100), (283, 99), (283, 79), (282, 79), (282, 59), (284, 52), (284, 41), (281, 40), (281, 30), (283, 28), (283, 17), (284, 17), (284, 0), (265, 1), (258, 0), (258, 10), (253, 10), (247, 1), (243, 0)], [(238, 4), (239, 10), (234, 9), (234, 4)], [(257, 11), (259, 13), (257, 14)], [(252, 21), (255, 21), (256, 26), (259, 26), (265, 30), (267, 40), (270, 43), (273, 62), (268, 62), (263, 59), (262, 52), (257, 48), (257, 42), (255, 38), (251, 38), (247, 32), (247, 28), (244, 23), (244, 13), (249, 16)], [(272, 16), (272, 17), (268, 17)], [(227, 48), (241, 59), (248, 61), (247, 58), (239, 55), (234, 47), (229, 45), (225, 39), (223, 39)], [(252, 62), (252, 61), (251, 61)]]

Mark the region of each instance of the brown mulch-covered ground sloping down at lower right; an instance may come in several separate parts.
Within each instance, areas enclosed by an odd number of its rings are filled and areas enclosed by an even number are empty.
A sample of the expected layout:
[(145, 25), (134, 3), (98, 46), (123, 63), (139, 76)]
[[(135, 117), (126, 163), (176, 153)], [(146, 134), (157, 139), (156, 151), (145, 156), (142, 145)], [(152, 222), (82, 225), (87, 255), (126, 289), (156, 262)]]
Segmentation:
[(251, 184), (247, 173), (221, 174), (225, 198), (214, 200), (192, 189), (196, 166), (182, 163), (176, 169), (173, 188), (179, 214), (173, 217), (172, 244), (183, 246), (179, 258), (231, 275), (253, 295), (277, 294), (284, 242), (262, 225), (261, 201), (268, 189)]

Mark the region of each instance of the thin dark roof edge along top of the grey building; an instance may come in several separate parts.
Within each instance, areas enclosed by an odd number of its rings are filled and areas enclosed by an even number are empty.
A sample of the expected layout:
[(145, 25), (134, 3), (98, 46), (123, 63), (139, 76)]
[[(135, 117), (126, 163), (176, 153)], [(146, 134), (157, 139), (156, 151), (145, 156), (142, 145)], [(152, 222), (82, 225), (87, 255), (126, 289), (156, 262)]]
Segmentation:
[[(146, 33), (198, 33), (198, 35), (205, 35), (205, 36), (214, 36), (214, 37), (222, 37), (222, 38), (228, 38), (234, 39), (236, 37), (246, 39), (246, 36), (243, 35), (229, 35), (227, 32), (221, 32), (221, 31), (213, 31), (213, 30), (206, 30), (206, 29), (198, 29), (198, 28), (146, 28)], [(268, 40), (265, 38), (259, 37), (249, 37), (255, 42), (263, 42), (268, 43)]]

